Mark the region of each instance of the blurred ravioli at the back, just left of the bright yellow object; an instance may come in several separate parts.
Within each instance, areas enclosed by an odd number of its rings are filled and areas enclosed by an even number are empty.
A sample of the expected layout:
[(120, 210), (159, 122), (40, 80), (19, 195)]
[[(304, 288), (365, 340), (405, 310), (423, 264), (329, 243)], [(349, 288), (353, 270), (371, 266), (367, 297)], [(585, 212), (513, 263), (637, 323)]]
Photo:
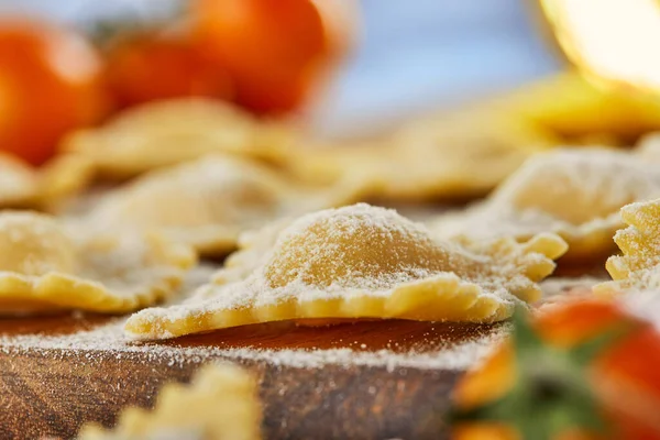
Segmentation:
[(483, 196), (531, 154), (556, 144), (530, 124), (495, 114), (457, 113), (396, 134), (381, 173), (383, 198), (425, 200)]

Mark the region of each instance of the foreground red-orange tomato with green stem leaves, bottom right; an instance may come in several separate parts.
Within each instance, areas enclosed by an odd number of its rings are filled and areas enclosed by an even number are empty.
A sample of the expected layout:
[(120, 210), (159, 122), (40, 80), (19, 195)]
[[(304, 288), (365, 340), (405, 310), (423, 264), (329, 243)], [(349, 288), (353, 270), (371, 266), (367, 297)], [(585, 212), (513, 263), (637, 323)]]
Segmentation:
[(653, 326), (591, 298), (524, 321), (455, 388), (454, 439), (660, 439)]

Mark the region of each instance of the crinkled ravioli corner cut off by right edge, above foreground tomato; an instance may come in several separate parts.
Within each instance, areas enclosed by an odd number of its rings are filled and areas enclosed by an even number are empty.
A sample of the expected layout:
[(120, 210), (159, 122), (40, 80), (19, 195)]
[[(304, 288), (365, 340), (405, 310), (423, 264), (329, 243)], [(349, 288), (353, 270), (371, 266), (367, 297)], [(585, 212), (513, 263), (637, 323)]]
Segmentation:
[(605, 267), (614, 280), (598, 284), (594, 292), (657, 290), (660, 288), (660, 199), (622, 208), (628, 228), (617, 231), (614, 241), (623, 255), (607, 260)]

